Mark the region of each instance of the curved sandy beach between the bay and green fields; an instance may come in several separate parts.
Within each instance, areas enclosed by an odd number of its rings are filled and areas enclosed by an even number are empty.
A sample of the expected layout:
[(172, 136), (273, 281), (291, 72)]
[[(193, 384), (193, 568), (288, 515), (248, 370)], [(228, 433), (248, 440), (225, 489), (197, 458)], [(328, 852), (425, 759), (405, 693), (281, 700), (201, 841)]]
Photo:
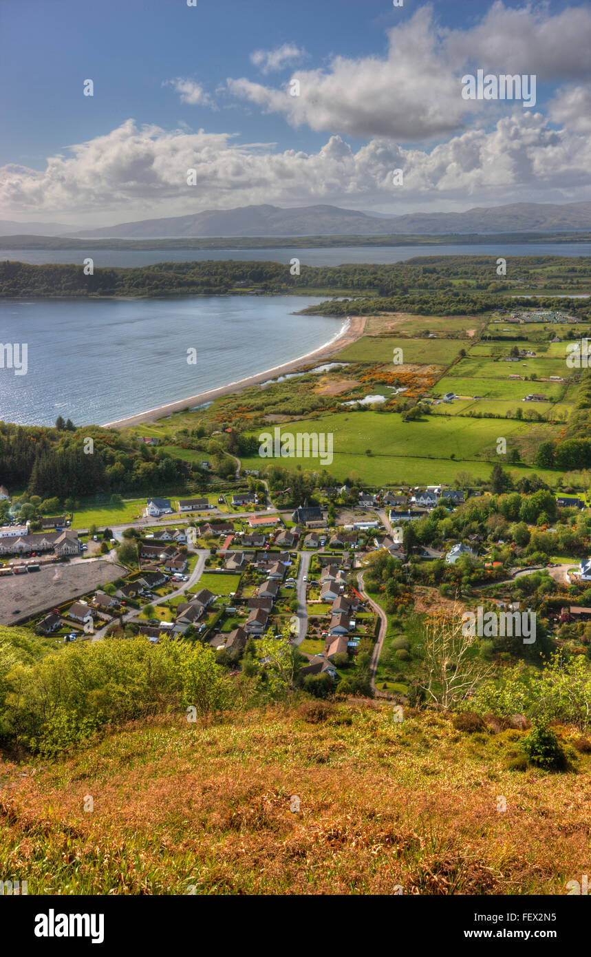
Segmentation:
[(228, 386), (221, 386), (219, 389), (209, 389), (208, 392), (200, 392), (198, 395), (191, 395), (189, 398), (180, 399), (178, 402), (169, 402), (167, 405), (160, 406), (158, 409), (148, 409), (147, 412), (130, 415), (129, 418), (118, 419), (116, 422), (107, 422), (103, 428), (129, 429), (131, 426), (140, 425), (142, 422), (156, 422), (158, 419), (164, 418), (164, 415), (170, 415), (172, 412), (182, 412), (184, 409), (193, 408), (194, 406), (201, 406), (204, 402), (213, 402), (214, 399), (219, 399), (222, 395), (230, 395), (231, 392), (240, 392), (242, 389), (248, 389), (250, 386), (268, 382), (269, 379), (274, 379), (276, 375), (285, 375), (287, 372), (295, 372), (302, 366), (310, 365), (311, 362), (323, 362), (334, 356), (335, 353), (343, 349), (345, 345), (350, 345), (357, 339), (360, 339), (366, 322), (367, 319), (365, 316), (351, 316), (347, 326), (336, 339), (327, 345), (321, 345), (320, 348), (314, 352), (309, 352), (308, 355), (300, 356), (292, 362), (283, 363), (282, 366), (268, 368), (266, 371), (251, 375), (247, 379), (230, 382)]

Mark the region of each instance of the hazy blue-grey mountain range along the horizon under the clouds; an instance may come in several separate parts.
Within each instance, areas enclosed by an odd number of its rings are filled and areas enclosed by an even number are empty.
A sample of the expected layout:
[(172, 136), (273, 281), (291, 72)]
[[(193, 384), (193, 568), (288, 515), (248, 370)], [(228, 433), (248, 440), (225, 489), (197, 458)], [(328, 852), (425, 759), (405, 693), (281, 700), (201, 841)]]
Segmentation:
[(591, 202), (511, 203), (490, 208), (474, 207), (465, 212), (411, 212), (401, 216), (320, 204), (290, 210), (265, 204), (234, 210), (205, 210), (165, 219), (142, 219), (81, 231), (55, 223), (0, 221), (0, 235), (44, 234), (98, 239), (544, 233), (590, 229)]

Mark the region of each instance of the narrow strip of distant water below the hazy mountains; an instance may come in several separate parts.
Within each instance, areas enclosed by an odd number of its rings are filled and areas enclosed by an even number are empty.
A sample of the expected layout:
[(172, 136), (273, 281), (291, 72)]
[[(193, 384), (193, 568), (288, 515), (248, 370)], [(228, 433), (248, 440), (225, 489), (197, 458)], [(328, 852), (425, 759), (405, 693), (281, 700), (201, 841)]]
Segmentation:
[(242, 259), (289, 263), (293, 256), (306, 266), (339, 266), (349, 262), (391, 263), (413, 256), (591, 256), (591, 243), (505, 243), (474, 246), (346, 246), (341, 249), (224, 249), (224, 250), (0, 250), (0, 259), (32, 262), (75, 262), (92, 256), (96, 266), (149, 266), (153, 262), (202, 262)]

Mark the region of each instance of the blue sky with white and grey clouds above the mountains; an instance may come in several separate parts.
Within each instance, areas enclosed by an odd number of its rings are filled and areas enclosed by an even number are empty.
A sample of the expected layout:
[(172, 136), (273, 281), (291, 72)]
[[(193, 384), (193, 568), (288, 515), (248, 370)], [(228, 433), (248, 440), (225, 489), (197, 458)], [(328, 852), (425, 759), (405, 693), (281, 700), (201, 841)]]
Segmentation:
[[(588, 199), (589, 50), (562, 0), (3, 0), (0, 215)], [(536, 105), (464, 100), (477, 69), (535, 75)]]

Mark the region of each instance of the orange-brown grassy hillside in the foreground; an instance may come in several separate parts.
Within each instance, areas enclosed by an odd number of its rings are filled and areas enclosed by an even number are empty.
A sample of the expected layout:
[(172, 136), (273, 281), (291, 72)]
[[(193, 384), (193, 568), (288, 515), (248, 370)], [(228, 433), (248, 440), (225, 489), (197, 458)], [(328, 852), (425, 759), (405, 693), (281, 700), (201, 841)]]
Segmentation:
[(0, 765), (0, 877), (63, 895), (564, 894), (588, 872), (591, 758), (509, 771), (519, 737), (365, 701), (322, 723), (131, 724), (43, 768)]

